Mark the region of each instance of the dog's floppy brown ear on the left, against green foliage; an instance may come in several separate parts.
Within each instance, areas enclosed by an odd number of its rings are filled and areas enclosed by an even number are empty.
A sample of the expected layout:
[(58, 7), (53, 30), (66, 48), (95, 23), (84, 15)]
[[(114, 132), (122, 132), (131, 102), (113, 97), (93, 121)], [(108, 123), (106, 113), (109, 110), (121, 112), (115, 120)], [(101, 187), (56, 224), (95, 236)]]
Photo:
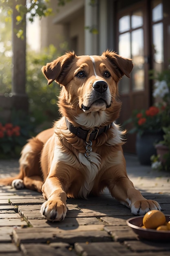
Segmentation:
[(60, 76), (63, 70), (71, 64), (75, 56), (75, 52), (68, 52), (42, 67), (41, 70), (48, 80), (48, 85), (54, 80), (60, 83)]

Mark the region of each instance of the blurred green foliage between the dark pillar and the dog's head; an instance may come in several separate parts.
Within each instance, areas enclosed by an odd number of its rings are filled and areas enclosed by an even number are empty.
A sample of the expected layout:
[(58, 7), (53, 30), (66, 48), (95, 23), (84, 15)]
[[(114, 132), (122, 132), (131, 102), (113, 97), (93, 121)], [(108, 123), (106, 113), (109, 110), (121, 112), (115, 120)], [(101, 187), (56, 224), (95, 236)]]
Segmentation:
[(37, 125), (44, 121), (52, 123), (59, 117), (56, 103), (60, 87), (55, 82), (47, 85), (47, 80), (41, 72), (42, 66), (58, 55), (53, 45), (44, 49), (43, 53), (27, 52), (26, 92), (29, 97), (30, 114)]

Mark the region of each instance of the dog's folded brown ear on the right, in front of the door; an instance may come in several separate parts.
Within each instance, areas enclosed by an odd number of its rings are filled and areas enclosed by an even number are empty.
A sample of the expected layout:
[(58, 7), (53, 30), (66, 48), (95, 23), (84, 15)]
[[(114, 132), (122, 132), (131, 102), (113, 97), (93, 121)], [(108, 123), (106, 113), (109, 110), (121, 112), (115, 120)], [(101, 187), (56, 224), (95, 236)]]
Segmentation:
[(126, 75), (130, 78), (130, 72), (133, 68), (132, 60), (123, 58), (116, 54), (115, 52), (106, 51), (103, 52), (102, 56), (105, 56), (108, 58), (108, 60), (111, 62), (112, 65), (115, 65), (119, 68), (119, 73), (121, 76)]

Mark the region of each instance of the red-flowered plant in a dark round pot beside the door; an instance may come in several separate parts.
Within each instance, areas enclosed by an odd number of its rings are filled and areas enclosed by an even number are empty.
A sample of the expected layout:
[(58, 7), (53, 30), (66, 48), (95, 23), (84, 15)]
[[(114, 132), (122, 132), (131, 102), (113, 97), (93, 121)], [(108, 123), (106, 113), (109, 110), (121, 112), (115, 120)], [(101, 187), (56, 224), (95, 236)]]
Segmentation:
[(163, 139), (162, 123), (166, 109), (162, 105), (151, 106), (147, 110), (135, 110), (126, 122), (132, 123), (129, 133), (137, 133), (136, 153), (140, 164), (151, 164), (151, 155), (156, 154), (154, 144)]

